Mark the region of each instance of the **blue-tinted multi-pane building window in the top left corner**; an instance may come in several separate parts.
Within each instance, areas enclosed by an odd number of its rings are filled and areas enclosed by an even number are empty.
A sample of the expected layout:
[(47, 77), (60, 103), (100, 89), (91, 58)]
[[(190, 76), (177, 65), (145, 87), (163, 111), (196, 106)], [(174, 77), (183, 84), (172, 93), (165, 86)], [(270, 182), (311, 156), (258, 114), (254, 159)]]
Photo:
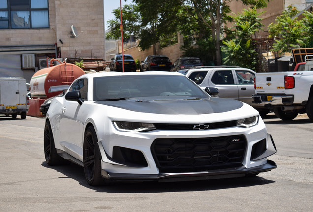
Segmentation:
[(49, 28), (48, 0), (0, 0), (0, 29)]

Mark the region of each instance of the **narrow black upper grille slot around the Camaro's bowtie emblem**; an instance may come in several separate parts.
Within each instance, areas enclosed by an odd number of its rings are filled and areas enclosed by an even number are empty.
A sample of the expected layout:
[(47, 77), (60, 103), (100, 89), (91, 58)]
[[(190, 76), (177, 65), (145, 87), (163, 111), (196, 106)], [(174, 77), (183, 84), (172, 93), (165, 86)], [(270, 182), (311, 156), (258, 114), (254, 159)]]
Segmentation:
[[(195, 124), (154, 124), (156, 129), (158, 130), (199, 130), (194, 129), (194, 126), (199, 125), (199, 123)], [(235, 121), (224, 121), (224, 122), (215, 122), (215, 123), (207, 123), (203, 125), (208, 125), (206, 129), (218, 129), (218, 128), (226, 128), (226, 127), (234, 127), (237, 125), (237, 120)]]

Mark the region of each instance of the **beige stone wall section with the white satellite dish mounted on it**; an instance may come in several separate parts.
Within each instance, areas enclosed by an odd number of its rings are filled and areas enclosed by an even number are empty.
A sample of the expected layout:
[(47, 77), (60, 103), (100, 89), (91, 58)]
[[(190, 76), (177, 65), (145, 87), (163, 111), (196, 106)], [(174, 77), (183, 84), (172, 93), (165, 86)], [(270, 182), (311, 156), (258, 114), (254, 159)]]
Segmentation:
[[(66, 3), (65, 3), (66, 2)], [(105, 59), (103, 0), (56, 0), (57, 42), (62, 57)], [(74, 25), (78, 37), (72, 38)], [(59, 41), (62, 40), (63, 44)]]

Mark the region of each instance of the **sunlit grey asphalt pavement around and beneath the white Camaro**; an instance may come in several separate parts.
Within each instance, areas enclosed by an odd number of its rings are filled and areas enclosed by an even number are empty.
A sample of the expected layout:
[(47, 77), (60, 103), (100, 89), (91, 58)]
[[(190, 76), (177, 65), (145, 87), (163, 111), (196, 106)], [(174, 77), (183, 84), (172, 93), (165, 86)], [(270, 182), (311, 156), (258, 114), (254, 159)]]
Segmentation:
[(278, 167), (256, 177), (175, 183), (87, 184), (75, 164), (48, 166), (44, 118), (0, 116), (0, 212), (312, 212), (313, 123), (264, 119)]

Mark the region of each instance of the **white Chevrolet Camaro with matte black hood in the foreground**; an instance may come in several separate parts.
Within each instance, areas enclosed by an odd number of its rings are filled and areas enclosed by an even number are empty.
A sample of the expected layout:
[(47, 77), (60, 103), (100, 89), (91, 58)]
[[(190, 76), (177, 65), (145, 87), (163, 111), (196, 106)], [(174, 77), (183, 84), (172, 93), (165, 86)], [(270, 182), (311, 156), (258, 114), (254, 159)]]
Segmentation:
[(267, 159), (276, 148), (259, 113), (210, 90), (177, 72), (80, 76), (47, 112), (47, 164), (77, 163), (93, 186), (254, 176), (276, 168)]

